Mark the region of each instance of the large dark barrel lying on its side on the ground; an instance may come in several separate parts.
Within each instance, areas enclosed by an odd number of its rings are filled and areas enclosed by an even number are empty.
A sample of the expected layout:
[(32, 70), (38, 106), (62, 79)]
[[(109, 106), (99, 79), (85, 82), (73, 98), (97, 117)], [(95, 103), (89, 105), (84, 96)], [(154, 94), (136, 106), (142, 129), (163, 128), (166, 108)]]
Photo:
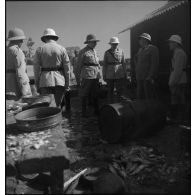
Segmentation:
[(165, 122), (166, 109), (160, 101), (126, 101), (102, 106), (99, 129), (104, 140), (117, 143), (160, 130)]

